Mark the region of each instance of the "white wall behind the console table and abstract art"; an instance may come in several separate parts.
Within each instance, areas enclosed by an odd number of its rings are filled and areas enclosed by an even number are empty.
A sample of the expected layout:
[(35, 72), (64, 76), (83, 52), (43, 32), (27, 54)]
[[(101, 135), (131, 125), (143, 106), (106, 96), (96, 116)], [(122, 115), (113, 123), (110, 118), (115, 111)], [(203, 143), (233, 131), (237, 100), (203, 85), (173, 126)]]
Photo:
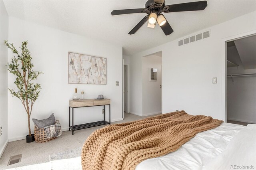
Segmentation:
[[(20, 47), (28, 40), (28, 49), (32, 54), (34, 70), (44, 74), (38, 77), (42, 90), (34, 104), (31, 118), (46, 119), (54, 113), (62, 125), (68, 129), (68, 100), (74, 93), (85, 91), (86, 99), (93, 99), (98, 94), (111, 99), (111, 121), (122, 120), (122, 46), (112, 45), (99, 40), (88, 39), (68, 32), (40, 26), (16, 18), (9, 18), (9, 42)], [(68, 51), (107, 58), (107, 85), (68, 84)], [(9, 51), (9, 60), (12, 57)], [(15, 88), (14, 76), (9, 73), (9, 88)], [(116, 86), (116, 81), (120, 82)], [(74, 123), (88, 123), (103, 119), (103, 106), (77, 108)], [(106, 107), (108, 115), (108, 107)], [(24, 138), (28, 134), (26, 112), (18, 98), (8, 99), (9, 140)], [(108, 120), (108, 116), (106, 117)], [(31, 125), (34, 131), (33, 123)]]

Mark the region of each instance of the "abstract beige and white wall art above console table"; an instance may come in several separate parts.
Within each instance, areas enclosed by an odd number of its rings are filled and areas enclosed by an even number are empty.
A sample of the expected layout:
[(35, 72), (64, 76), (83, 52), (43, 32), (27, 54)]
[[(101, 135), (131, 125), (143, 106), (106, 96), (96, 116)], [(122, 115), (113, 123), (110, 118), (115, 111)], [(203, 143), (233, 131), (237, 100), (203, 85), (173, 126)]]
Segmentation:
[(107, 84), (107, 59), (68, 52), (68, 83)]

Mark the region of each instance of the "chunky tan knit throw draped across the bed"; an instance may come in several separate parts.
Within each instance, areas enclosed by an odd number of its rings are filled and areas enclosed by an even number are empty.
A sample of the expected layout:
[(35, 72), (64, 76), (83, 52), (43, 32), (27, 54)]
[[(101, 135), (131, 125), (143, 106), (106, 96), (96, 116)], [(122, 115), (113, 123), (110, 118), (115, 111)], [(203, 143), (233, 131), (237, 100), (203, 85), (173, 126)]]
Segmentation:
[(184, 111), (95, 130), (81, 153), (83, 170), (134, 170), (143, 160), (178, 150), (198, 132), (218, 127), (223, 121)]

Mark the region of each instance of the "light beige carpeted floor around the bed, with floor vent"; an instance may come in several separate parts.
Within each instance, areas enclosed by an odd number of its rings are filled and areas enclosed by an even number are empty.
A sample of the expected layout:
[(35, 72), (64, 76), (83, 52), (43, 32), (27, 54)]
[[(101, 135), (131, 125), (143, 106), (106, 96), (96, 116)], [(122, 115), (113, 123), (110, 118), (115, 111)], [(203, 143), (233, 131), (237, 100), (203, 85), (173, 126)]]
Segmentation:
[[(114, 122), (113, 124), (136, 121), (144, 118), (146, 117), (124, 113), (124, 120)], [(9, 142), (2, 157), (0, 158), (0, 169), (51, 169), (51, 166), (47, 163), (49, 162), (50, 155), (58, 156), (59, 153), (69, 152), (70, 150), (77, 150), (78, 148), (82, 148), (86, 138), (94, 130), (102, 127), (104, 126), (77, 130), (74, 132), (74, 135), (72, 135), (71, 131), (65, 131), (62, 132), (62, 136), (59, 138), (41, 144), (36, 142), (26, 143), (25, 140)], [(16, 164), (7, 166), (10, 156), (18, 154), (22, 154), (21, 161)]]

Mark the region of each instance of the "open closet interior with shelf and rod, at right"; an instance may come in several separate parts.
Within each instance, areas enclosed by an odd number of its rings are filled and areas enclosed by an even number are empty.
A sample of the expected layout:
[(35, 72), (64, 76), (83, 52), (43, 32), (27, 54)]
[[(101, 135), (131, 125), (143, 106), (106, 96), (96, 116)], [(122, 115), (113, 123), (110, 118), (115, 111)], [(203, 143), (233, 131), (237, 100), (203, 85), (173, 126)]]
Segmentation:
[(226, 118), (256, 124), (256, 35), (226, 43)]

